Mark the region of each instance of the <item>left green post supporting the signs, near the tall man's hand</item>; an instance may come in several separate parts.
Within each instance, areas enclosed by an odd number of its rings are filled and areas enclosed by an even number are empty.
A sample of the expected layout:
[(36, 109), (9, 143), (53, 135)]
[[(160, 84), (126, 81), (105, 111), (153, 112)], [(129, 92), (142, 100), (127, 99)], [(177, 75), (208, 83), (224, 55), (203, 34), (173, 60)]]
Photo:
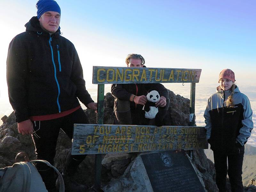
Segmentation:
[[(104, 84), (98, 85), (98, 109), (97, 109), (97, 124), (103, 124), (104, 117)], [(101, 154), (95, 155), (95, 182), (94, 188), (100, 189), (101, 183)]]

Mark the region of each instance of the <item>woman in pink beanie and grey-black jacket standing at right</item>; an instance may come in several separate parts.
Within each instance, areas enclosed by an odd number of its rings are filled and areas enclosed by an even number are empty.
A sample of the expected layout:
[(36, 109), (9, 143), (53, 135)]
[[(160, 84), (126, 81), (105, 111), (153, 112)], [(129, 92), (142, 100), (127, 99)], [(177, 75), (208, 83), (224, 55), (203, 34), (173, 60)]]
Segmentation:
[(227, 173), (232, 192), (243, 191), (244, 144), (253, 129), (250, 101), (239, 91), (235, 81), (234, 72), (223, 69), (219, 75), (220, 85), (208, 99), (204, 112), (206, 139), (213, 150), (216, 184), (220, 192), (227, 190)]

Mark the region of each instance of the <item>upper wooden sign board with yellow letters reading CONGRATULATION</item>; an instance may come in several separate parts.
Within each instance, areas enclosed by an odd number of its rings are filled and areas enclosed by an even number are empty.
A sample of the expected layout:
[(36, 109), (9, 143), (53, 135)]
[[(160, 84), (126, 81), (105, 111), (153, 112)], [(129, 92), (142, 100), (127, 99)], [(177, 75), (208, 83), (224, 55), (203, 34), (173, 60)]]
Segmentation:
[(198, 83), (202, 69), (93, 66), (92, 84)]

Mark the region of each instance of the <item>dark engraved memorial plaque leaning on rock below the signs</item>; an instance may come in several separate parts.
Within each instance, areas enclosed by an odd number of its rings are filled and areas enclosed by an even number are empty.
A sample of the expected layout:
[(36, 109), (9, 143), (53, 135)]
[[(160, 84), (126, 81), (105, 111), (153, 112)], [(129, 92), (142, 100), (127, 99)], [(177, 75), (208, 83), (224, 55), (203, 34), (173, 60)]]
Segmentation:
[(154, 192), (205, 192), (184, 150), (141, 155)]

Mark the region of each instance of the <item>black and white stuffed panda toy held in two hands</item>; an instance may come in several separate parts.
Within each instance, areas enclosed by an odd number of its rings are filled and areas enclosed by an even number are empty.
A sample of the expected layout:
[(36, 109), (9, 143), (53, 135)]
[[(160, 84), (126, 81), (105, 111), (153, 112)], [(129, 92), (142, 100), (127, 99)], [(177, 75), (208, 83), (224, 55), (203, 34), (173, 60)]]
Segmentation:
[(147, 94), (148, 102), (144, 106), (145, 117), (148, 119), (154, 119), (158, 113), (158, 107), (156, 102), (160, 100), (160, 95), (156, 90), (149, 91)]

